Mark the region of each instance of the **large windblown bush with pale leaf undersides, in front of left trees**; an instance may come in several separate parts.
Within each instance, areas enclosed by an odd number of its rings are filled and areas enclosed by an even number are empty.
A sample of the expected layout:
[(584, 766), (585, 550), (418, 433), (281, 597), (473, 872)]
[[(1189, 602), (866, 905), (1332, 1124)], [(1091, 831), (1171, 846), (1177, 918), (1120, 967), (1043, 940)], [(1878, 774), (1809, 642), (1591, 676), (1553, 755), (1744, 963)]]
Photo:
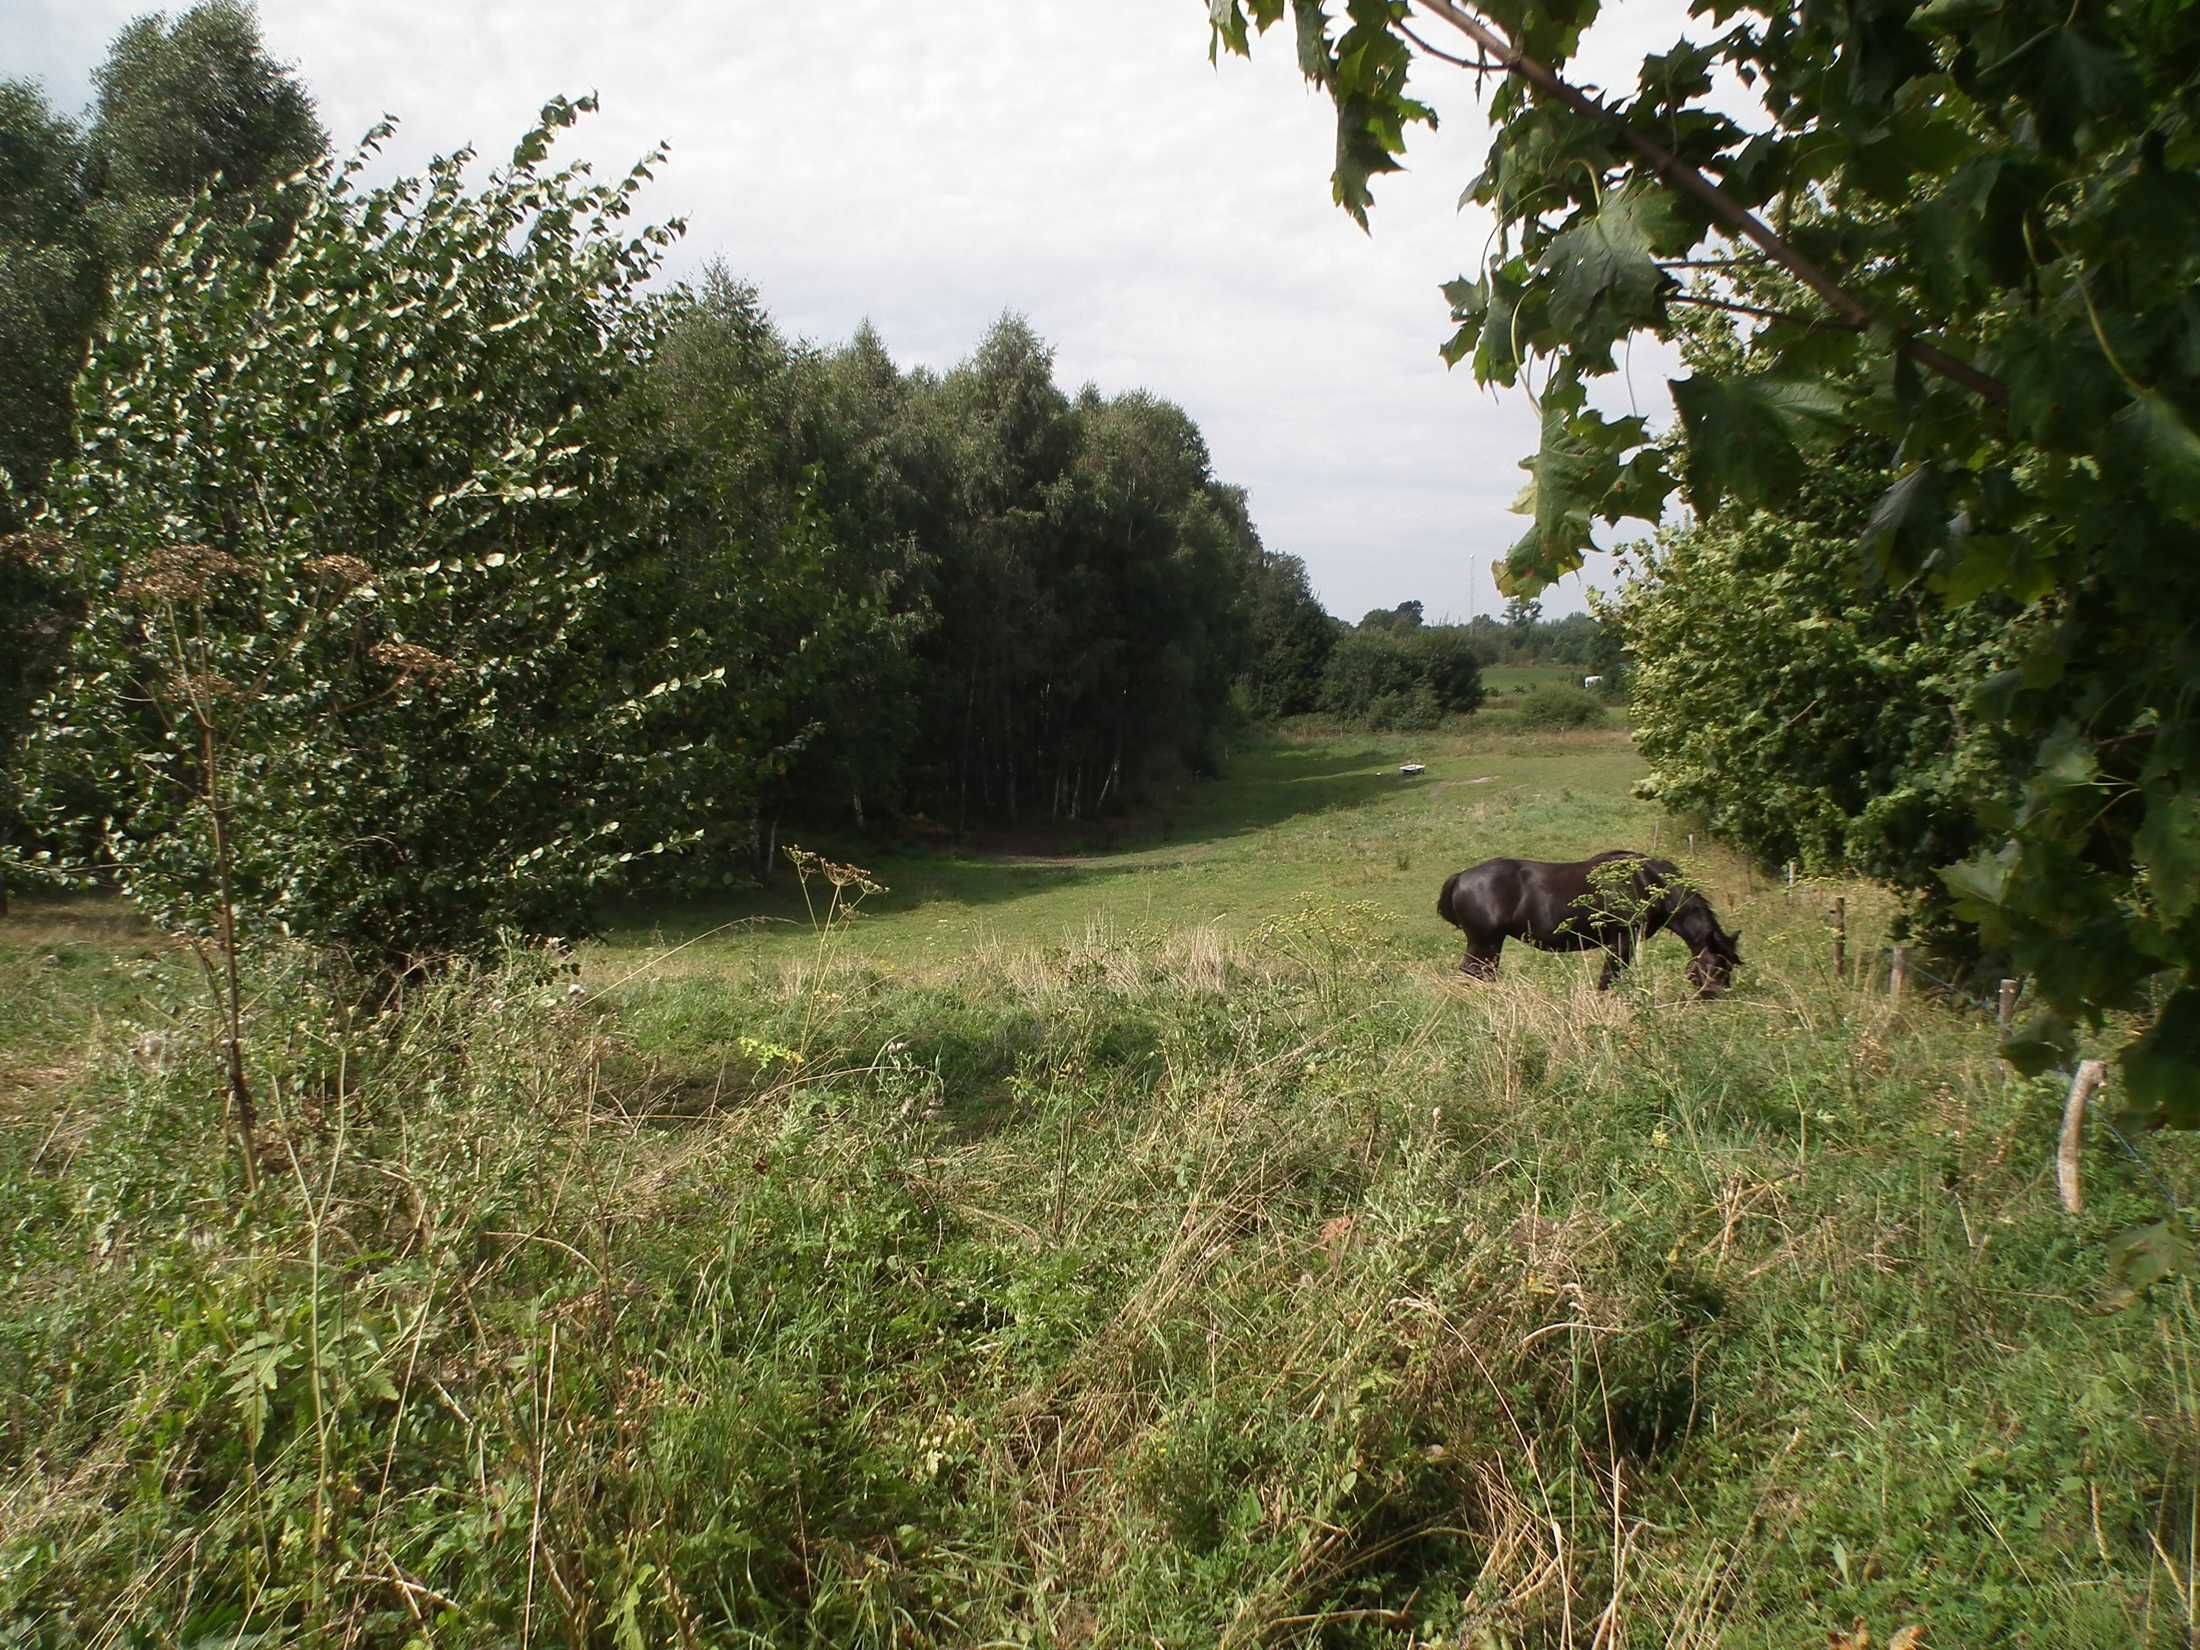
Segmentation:
[(295, 233), (191, 218), (121, 293), (44, 517), (86, 618), (33, 761), (48, 812), (99, 790), (161, 922), (392, 961), (561, 928), (752, 761), (680, 711), (724, 667), (618, 451), (669, 233), (623, 222), (647, 163), (543, 169), (583, 108), (480, 194), (469, 154), (323, 165)]

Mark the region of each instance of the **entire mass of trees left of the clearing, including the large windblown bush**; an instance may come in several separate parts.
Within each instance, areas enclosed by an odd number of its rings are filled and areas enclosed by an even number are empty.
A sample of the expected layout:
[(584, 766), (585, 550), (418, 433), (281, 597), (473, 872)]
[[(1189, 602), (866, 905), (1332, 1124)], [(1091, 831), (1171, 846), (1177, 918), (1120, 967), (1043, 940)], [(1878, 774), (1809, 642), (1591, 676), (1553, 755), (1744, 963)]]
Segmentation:
[(367, 189), (229, 0), (97, 84), (0, 106), (18, 876), (398, 961), (788, 821), (1087, 818), (1307, 706), (1305, 568), (1021, 317), (928, 372), (660, 293), (660, 156), (550, 163), (585, 103)]

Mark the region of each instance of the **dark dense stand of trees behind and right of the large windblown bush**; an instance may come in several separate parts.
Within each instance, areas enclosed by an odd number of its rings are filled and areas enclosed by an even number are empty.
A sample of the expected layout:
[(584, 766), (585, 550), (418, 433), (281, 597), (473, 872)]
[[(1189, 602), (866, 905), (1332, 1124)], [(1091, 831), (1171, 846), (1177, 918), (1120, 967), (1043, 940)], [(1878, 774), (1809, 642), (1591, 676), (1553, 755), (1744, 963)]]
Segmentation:
[(759, 796), (766, 843), (781, 814), (1080, 818), (1212, 770), (1278, 559), (1181, 407), (1063, 394), (1014, 315), (946, 374), (900, 370), (869, 328), (790, 343), (724, 268), (664, 306), (651, 381), (700, 462), (691, 530), (810, 521), (829, 585), (860, 594), (825, 642), (770, 631), (829, 669)]

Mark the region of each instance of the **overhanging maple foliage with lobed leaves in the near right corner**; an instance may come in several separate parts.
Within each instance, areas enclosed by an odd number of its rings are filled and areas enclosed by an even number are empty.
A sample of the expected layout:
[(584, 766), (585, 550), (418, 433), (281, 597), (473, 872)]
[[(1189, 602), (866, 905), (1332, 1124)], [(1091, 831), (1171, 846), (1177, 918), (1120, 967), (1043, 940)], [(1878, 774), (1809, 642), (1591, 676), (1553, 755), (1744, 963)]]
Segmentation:
[[(1217, 0), (1217, 46), (1245, 51), (1283, 9)], [(1404, 46), (1401, 7), (1346, 11)], [(1397, 79), (1346, 84), (1322, 13), (1296, 7), (1300, 62), (1338, 103), (1360, 216), (1362, 134), (1388, 163), (1428, 108), (1390, 53)], [(2064, 1014), (2158, 1005), (2145, 1071), (2176, 1078), (2147, 1076), (2145, 1100), (2200, 1122), (2200, 1049), (2174, 1034), (2200, 1019), (2200, 917), (2165, 898), (2200, 792), (2200, 11), (1712, 4), (1709, 42), (1646, 57), (1610, 99), (1564, 79), (1597, 15), (1437, 13), (1503, 75), (1467, 189), (1496, 238), (1445, 288), (1445, 356), (1507, 385), (1533, 363), (1540, 385), (1533, 526), (1505, 581), (1577, 568), (1597, 521), (1657, 519), (1674, 488), (1698, 517), (1784, 513), (1846, 442), (1899, 451), (1868, 568), (1951, 609), (2026, 609), (1976, 706), (2015, 755), (1976, 805), (1958, 909)], [(1753, 117), (1723, 112), (1714, 66)], [(1747, 361), (1676, 387), (1672, 458), (1588, 409), (1632, 332), (1734, 304), (1762, 326)]]

